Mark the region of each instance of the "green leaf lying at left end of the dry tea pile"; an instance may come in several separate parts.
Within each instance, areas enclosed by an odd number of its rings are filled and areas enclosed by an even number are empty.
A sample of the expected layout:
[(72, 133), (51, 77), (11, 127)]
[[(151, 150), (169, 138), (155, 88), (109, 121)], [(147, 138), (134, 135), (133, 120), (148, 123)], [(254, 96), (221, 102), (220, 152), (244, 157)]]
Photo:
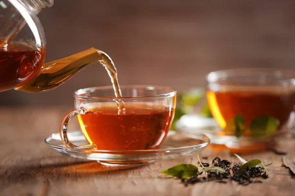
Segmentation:
[(198, 167), (191, 164), (179, 164), (160, 173), (170, 175), (177, 178), (188, 178), (199, 172)]

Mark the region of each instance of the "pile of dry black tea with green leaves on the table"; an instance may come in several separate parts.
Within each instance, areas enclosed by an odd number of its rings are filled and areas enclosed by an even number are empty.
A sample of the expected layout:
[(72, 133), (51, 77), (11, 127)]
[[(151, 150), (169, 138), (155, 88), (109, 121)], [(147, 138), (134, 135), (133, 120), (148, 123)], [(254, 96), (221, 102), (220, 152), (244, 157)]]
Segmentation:
[[(254, 159), (247, 162), (238, 155), (236, 156), (240, 160), (243, 160), (243, 165), (241, 163), (233, 164), (227, 160), (222, 160), (219, 157), (213, 159), (211, 164), (202, 163), (198, 155), (199, 163), (203, 168), (201, 172), (199, 172), (196, 166), (193, 167), (193, 165), (190, 164), (187, 164), (187, 166), (186, 164), (180, 164), (161, 173), (181, 178), (181, 182), (185, 186), (188, 184), (208, 181), (227, 183), (228, 180), (236, 181), (238, 184), (248, 185), (250, 183), (263, 182), (257, 178), (268, 178), (266, 166), (271, 165), (273, 160), (270, 164), (265, 164), (265, 166), (259, 159)], [(186, 171), (184, 168), (187, 168), (188, 171)], [(206, 175), (204, 175), (204, 172), (206, 172)], [(191, 175), (189, 175), (190, 173)]]

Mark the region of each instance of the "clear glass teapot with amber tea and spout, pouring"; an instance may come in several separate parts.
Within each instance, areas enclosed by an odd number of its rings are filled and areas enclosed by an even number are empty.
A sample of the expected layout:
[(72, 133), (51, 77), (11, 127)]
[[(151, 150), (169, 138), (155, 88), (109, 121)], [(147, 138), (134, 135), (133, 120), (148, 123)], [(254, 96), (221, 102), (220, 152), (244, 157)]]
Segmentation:
[[(94, 62), (117, 75), (111, 58), (94, 48), (44, 64), (46, 40), (36, 15), (52, 5), (53, 0), (0, 0), (0, 92), (52, 90)], [(22, 35), (25, 27), (29, 33)]]

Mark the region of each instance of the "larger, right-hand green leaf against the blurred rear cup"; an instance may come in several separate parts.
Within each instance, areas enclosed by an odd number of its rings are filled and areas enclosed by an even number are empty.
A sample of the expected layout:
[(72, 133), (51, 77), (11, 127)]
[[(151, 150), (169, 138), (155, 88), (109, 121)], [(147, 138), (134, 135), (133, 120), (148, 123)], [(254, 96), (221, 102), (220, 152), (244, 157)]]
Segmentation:
[(261, 135), (263, 132), (263, 136), (271, 136), (277, 130), (279, 124), (280, 121), (278, 119), (263, 115), (251, 122), (249, 130), (253, 135)]

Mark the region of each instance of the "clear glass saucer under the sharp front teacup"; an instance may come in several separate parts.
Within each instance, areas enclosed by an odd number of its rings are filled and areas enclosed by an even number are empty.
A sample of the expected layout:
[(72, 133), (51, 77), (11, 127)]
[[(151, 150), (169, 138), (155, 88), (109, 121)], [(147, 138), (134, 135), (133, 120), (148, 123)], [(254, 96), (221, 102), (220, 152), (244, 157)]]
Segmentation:
[[(88, 144), (81, 131), (68, 133), (68, 138), (76, 145)], [(169, 131), (160, 149), (148, 150), (92, 150), (65, 147), (60, 140), (59, 133), (54, 133), (45, 139), (45, 144), (53, 151), (66, 156), (95, 160), (107, 166), (147, 165), (161, 159), (174, 159), (195, 154), (204, 149), (210, 139), (200, 133), (183, 133)]]

